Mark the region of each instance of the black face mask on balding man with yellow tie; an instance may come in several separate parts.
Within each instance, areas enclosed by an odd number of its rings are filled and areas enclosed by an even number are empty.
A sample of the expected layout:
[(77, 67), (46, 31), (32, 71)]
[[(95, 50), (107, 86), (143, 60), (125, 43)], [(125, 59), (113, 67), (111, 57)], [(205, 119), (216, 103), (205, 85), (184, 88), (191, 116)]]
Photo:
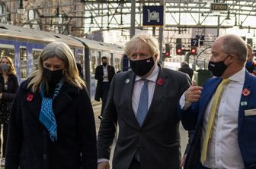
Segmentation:
[[(229, 55), (226, 58), (228, 58), (228, 57), (229, 57)], [(219, 62), (209, 61), (208, 69), (213, 73), (213, 76), (221, 77), (221, 75), (224, 73), (224, 71), (228, 67), (224, 63), (226, 61), (226, 58), (224, 59), (224, 61), (219, 61)]]

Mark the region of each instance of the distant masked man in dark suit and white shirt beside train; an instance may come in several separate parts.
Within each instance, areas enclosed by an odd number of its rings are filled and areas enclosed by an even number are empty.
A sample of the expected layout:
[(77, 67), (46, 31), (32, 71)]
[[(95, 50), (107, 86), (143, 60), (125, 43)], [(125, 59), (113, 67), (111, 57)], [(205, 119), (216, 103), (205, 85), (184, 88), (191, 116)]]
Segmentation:
[(102, 114), (107, 101), (107, 93), (110, 89), (110, 83), (112, 78), (114, 77), (115, 70), (113, 66), (107, 65), (107, 57), (103, 56), (101, 58), (102, 65), (96, 67), (95, 70), (95, 79), (98, 80), (95, 100), (102, 102), (101, 106), (101, 115), (98, 117), (100, 120), (102, 119)]

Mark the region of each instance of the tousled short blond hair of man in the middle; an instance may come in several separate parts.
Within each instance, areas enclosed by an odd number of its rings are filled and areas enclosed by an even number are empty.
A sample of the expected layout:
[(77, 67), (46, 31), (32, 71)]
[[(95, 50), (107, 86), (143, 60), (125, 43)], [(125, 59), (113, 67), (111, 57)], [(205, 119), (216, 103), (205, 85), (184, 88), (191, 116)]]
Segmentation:
[(133, 36), (133, 38), (130, 39), (129, 42), (126, 42), (124, 52), (130, 58), (131, 52), (133, 50), (142, 49), (143, 42), (149, 45), (151, 55), (152, 56), (156, 55), (156, 58), (158, 58), (159, 57), (158, 40), (155, 39), (155, 37), (153, 36), (148, 36), (145, 34), (139, 34), (139, 35)]

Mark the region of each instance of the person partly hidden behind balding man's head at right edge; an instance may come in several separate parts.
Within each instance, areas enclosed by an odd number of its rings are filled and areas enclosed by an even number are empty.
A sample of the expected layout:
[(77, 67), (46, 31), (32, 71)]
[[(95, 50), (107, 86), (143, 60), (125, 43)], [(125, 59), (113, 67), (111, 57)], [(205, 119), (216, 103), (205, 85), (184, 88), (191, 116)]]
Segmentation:
[(251, 48), (250, 44), (247, 45), (247, 61), (245, 64), (246, 70), (250, 72), (251, 74), (256, 74), (256, 61), (254, 61), (254, 51)]

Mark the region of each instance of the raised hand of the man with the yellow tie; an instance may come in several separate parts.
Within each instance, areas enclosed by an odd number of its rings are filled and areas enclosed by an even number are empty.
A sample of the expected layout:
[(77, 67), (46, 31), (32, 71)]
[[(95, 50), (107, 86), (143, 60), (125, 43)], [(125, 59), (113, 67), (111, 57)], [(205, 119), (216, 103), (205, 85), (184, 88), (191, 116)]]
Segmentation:
[(196, 86), (195, 81), (192, 82), (190, 88), (185, 92), (186, 102), (197, 102), (200, 99), (203, 87)]

